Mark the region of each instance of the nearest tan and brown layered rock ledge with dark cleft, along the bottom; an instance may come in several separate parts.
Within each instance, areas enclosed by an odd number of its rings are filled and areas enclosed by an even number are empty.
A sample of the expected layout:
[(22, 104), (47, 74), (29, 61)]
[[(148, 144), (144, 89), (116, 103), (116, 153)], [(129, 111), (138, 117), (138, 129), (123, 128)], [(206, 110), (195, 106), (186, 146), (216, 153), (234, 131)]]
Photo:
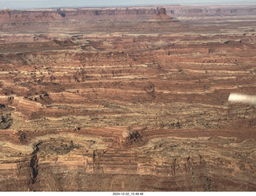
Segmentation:
[(1, 130), (1, 190), (255, 190), (254, 129), (132, 129)]

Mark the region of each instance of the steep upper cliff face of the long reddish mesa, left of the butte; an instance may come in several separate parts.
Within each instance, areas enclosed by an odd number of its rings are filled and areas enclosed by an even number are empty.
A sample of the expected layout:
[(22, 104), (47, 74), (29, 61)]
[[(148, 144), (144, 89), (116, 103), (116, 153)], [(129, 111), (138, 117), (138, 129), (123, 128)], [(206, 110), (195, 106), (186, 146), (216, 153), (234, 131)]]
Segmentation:
[(154, 14), (156, 9), (77, 9), (77, 10), (1, 10), (0, 22), (55, 22), (67, 20), (145, 20)]

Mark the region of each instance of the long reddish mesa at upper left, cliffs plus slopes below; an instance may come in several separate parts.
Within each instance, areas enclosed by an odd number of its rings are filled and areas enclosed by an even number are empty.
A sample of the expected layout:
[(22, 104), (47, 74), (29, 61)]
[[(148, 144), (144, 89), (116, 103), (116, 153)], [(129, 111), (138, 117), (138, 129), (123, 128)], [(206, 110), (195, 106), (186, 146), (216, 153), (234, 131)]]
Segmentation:
[[(0, 11), (0, 31), (57, 32), (68, 30), (74, 32), (86, 30), (97, 32), (107, 30), (127, 32), (134, 30), (135, 32), (167, 29), (167, 26), (174, 21), (166, 14), (160, 14), (157, 20), (151, 20), (158, 12), (159, 10), (155, 8), (145, 7), (2, 10)], [(159, 25), (158, 20), (166, 24)]]

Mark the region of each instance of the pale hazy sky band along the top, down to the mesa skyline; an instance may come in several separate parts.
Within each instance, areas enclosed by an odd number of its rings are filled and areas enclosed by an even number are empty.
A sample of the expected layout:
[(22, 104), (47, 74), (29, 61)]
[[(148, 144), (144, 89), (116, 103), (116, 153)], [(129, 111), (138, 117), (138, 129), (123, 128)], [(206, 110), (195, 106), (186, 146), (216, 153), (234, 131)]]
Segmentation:
[(0, 10), (4, 8), (9, 8), (10, 10), (27, 10), (27, 9), (51, 9), (51, 8), (78, 8), (78, 7), (118, 7), (118, 6), (174, 6), (174, 5), (181, 5), (181, 6), (228, 6), (228, 5), (253, 5), (256, 4), (256, 0), (247, 0), (243, 2), (242, 0), (230, 0), (228, 2), (223, 1), (213, 1), (213, 0), (174, 0), (174, 1), (166, 1), (166, 0), (148, 0), (148, 1), (124, 1), (119, 0), (110, 0), (110, 1), (102, 1), (102, 0), (94, 0), (93, 3), (89, 1), (82, 1), (82, 0), (74, 0), (72, 3), (68, 0), (0, 0)]

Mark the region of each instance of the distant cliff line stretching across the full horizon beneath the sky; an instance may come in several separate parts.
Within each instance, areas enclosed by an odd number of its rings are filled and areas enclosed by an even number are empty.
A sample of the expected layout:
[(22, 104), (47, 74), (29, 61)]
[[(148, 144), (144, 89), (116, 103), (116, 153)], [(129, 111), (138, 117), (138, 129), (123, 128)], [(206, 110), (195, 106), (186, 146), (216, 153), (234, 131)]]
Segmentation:
[(221, 17), (256, 15), (256, 6), (123, 6), (101, 8), (56, 8), (34, 10), (0, 10), (0, 22), (53, 22), (92, 20), (149, 20), (165, 8), (170, 17)]

